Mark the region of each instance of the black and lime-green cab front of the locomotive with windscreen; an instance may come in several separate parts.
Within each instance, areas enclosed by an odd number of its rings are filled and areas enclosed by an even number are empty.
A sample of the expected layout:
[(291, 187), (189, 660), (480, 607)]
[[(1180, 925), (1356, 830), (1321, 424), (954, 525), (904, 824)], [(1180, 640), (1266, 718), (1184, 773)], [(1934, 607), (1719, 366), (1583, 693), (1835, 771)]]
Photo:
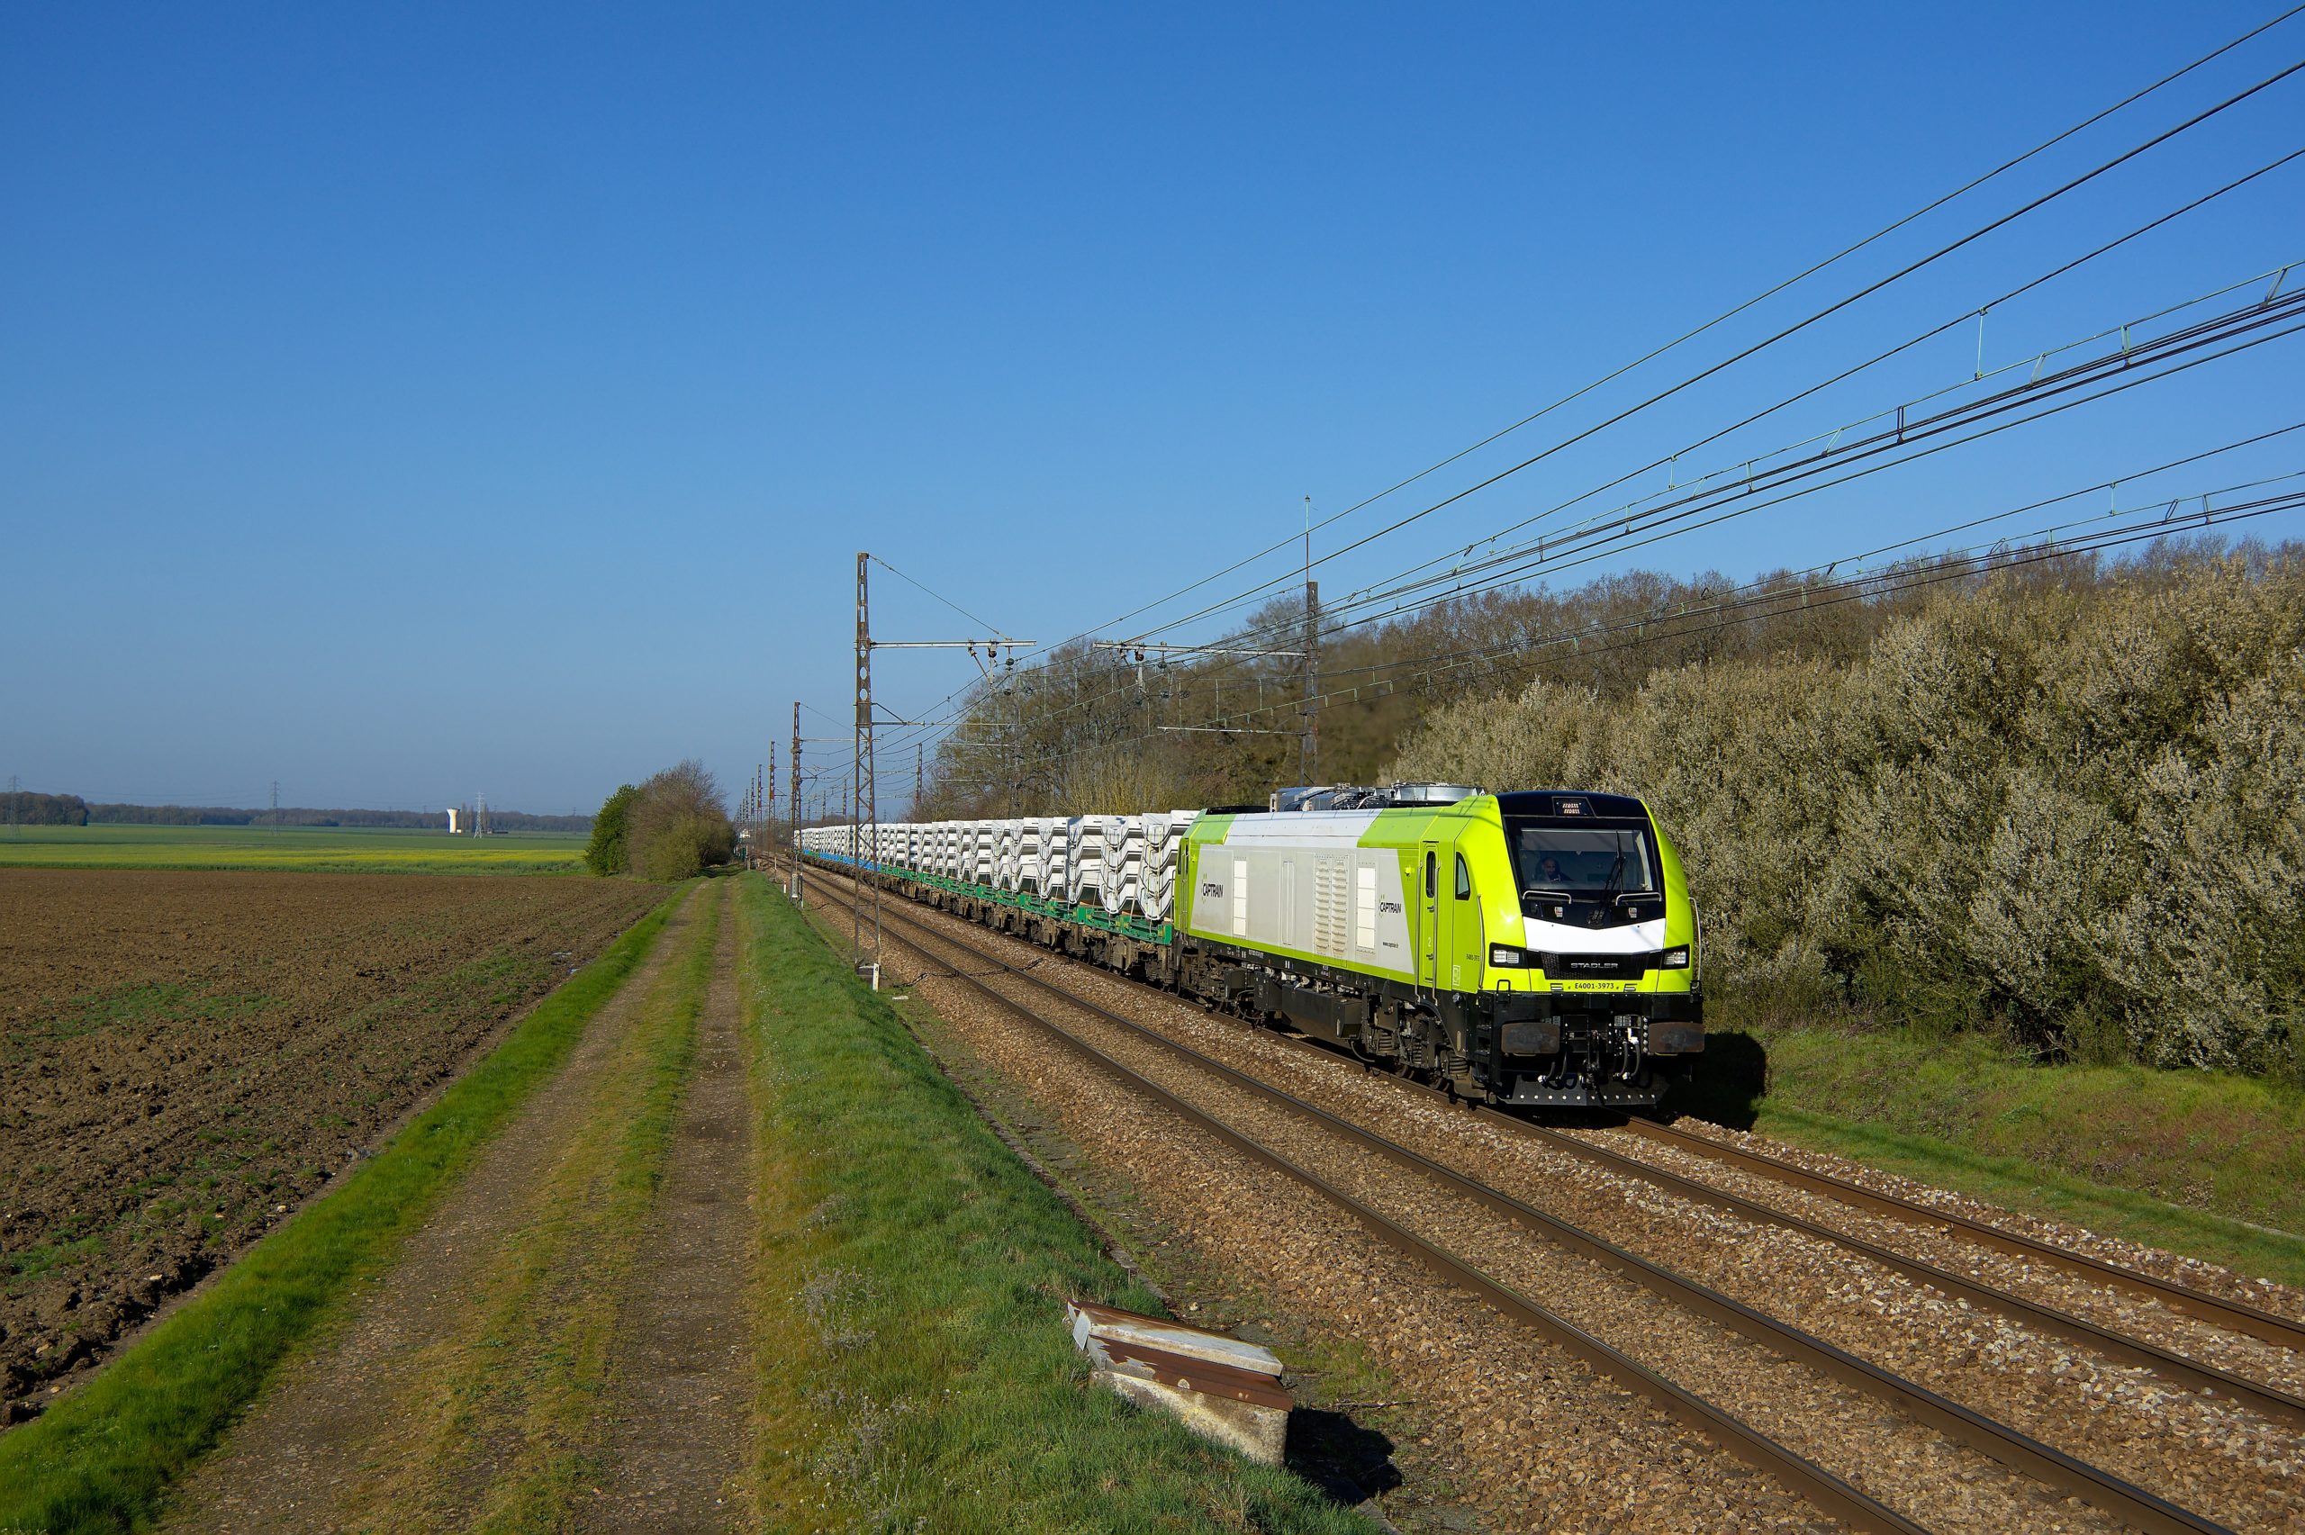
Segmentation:
[(1673, 844), (1632, 795), (1505, 793), (1496, 811), (1503, 846), (1484, 827), (1468, 862), (1489, 1090), (1507, 1104), (1657, 1102), (1706, 1046), (1696, 908)]

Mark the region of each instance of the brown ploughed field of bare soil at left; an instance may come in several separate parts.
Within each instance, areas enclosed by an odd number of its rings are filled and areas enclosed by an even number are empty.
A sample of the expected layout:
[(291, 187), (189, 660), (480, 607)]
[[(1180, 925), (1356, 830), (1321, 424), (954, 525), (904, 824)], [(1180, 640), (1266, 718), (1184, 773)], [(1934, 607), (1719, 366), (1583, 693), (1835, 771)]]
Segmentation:
[(284, 1219), (659, 890), (0, 869), (0, 1411)]

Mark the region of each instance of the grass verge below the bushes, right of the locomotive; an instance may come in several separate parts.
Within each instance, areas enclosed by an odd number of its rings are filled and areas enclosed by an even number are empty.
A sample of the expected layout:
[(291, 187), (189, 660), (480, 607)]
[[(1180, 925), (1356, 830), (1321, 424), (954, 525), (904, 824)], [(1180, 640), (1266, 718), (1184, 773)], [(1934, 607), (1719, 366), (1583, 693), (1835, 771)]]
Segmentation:
[(1835, 1028), (1717, 1035), (1708, 1067), (1683, 1113), (2305, 1286), (2305, 1092), (2284, 1083)]

